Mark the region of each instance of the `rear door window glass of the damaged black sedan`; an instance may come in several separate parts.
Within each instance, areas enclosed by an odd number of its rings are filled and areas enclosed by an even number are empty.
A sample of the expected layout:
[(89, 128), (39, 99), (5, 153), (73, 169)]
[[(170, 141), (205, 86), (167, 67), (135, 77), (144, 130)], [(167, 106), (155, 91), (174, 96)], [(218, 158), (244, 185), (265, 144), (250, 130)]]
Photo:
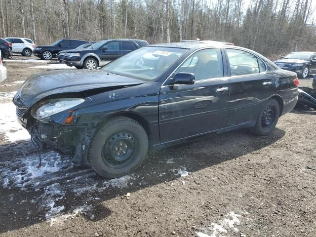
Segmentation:
[(257, 57), (239, 49), (226, 49), (232, 76), (259, 73)]

